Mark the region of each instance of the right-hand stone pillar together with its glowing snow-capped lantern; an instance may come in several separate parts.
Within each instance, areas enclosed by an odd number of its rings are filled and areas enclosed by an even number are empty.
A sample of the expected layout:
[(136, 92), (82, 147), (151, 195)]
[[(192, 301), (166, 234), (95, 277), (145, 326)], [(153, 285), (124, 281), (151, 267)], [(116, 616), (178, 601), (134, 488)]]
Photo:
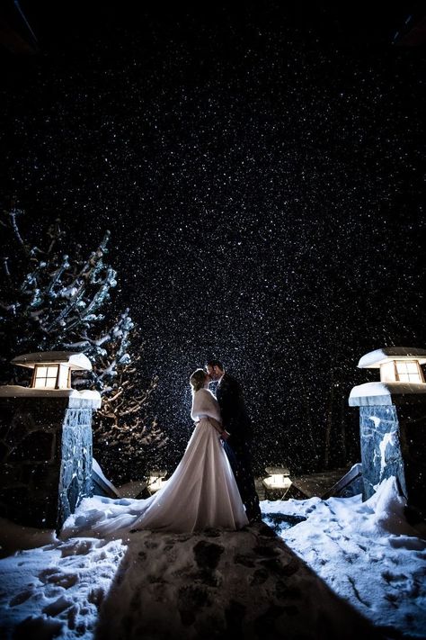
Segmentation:
[(394, 475), (415, 517), (425, 517), (426, 383), (421, 365), (426, 350), (384, 347), (359, 359), (359, 368), (380, 370), (380, 382), (351, 390), (349, 404), (359, 407), (364, 483), (363, 499)]

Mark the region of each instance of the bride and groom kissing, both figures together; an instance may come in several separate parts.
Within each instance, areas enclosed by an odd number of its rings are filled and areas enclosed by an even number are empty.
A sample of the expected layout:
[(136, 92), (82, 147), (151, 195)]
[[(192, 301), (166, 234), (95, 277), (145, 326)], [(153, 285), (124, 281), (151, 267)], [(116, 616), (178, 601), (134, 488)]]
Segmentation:
[[(210, 383), (217, 383), (216, 397)], [(133, 504), (131, 533), (236, 530), (262, 519), (250, 455), (252, 428), (240, 384), (218, 360), (194, 371), (190, 384), (195, 428), (164, 487), (138, 500), (138, 507)]]

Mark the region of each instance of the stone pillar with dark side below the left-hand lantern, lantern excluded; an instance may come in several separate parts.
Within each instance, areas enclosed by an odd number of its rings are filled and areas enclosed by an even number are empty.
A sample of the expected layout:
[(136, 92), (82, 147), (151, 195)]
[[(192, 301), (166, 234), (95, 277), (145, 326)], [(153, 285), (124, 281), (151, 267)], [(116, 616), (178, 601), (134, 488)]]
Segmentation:
[(92, 494), (92, 415), (99, 404), (75, 395), (0, 397), (4, 518), (58, 531)]

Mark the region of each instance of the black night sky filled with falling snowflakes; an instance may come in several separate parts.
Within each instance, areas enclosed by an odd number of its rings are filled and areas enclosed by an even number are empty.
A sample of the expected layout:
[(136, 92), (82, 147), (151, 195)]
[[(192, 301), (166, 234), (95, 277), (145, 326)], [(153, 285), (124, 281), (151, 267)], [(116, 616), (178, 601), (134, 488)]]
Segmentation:
[(259, 469), (321, 468), (330, 416), (332, 464), (358, 462), (359, 357), (426, 346), (415, 5), (21, 5), (40, 53), (2, 50), (2, 200), (34, 237), (111, 229), (168, 464), (207, 356), (244, 384)]

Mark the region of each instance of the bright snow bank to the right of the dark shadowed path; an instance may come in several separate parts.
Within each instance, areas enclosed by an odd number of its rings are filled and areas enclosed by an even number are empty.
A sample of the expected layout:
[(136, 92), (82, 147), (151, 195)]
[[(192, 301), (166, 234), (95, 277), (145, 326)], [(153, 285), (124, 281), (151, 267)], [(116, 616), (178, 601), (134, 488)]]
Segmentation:
[(407, 523), (404, 506), (391, 477), (365, 502), (360, 495), (262, 502), (262, 511), (306, 517), (281, 528), (287, 545), (377, 626), (424, 638), (425, 531)]

